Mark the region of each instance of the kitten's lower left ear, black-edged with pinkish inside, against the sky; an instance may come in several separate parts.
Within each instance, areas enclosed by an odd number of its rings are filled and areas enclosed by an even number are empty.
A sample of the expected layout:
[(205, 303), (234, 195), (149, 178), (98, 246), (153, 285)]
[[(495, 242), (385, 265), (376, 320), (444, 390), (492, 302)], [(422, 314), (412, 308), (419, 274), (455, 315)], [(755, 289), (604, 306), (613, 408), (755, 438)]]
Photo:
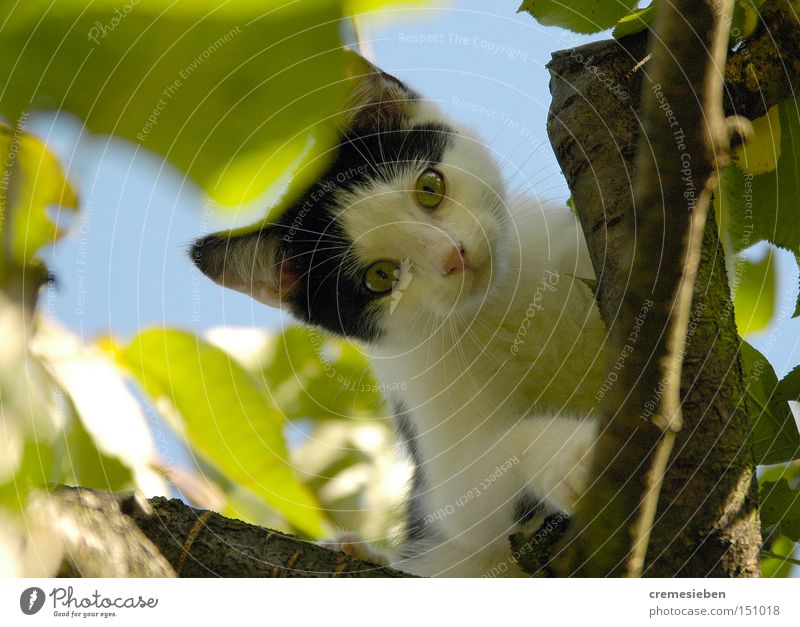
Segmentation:
[(189, 251), (195, 266), (215, 283), (281, 307), (297, 284), (283, 240), (270, 229), (213, 233)]

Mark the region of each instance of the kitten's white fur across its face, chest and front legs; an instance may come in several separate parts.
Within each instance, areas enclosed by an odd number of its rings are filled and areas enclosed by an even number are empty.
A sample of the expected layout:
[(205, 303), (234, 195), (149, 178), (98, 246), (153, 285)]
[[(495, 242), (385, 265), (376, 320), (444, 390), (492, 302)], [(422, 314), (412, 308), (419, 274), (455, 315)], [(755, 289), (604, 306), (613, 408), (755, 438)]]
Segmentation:
[[(593, 272), (567, 207), (506, 203), (497, 167), (465, 129), (437, 168), (447, 190), (432, 213), (414, 201), (418, 169), (341, 199), (362, 262), (410, 262), (386, 299), (385, 335), (364, 350), (387, 389), (404, 390), (442, 539), (395, 566), (518, 575), (508, 535), (523, 490), (571, 512), (586, 483), (596, 426), (584, 418), (605, 374), (605, 329), (579, 280)], [(456, 245), (472, 269), (443, 276)]]

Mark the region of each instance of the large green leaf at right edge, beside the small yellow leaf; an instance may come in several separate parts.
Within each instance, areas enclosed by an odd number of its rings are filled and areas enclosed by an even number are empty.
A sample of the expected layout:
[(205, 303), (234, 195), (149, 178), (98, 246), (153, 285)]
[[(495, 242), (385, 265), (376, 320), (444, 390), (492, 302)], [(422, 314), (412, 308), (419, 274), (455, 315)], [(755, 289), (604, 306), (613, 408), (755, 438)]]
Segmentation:
[[(773, 114), (774, 115), (774, 114)], [(769, 116), (768, 116), (769, 117)], [(761, 174), (745, 174), (735, 165), (720, 176), (720, 225), (734, 252), (766, 240), (800, 253), (800, 108), (797, 100), (778, 106), (780, 158), (777, 168)], [(775, 127), (762, 135), (770, 144)], [(754, 138), (755, 141), (755, 138)], [(763, 152), (763, 151), (762, 151)], [(755, 159), (755, 163), (766, 163)], [(759, 166), (759, 169), (763, 169)]]

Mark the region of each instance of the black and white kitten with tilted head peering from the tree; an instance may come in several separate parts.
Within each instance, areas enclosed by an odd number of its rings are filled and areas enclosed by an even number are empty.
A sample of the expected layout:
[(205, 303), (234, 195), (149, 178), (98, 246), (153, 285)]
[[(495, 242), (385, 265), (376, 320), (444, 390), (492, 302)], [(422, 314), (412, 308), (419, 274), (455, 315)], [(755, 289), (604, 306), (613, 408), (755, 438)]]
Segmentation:
[[(358, 342), (415, 471), (392, 564), (518, 575), (508, 536), (587, 483), (605, 328), (563, 206), (506, 198), (488, 148), (396, 78), (354, 78), (336, 158), (276, 224), (213, 234), (211, 279)], [(399, 390), (402, 390), (400, 392)], [(533, 522), (532, 522), (533, 521)]]

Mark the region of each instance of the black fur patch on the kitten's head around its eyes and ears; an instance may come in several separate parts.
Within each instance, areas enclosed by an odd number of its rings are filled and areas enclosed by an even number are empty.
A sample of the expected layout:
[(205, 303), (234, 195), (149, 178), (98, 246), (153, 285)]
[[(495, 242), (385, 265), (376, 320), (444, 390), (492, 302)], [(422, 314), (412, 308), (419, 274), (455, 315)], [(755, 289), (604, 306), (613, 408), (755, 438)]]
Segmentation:
[(277, 224), (245, 235), (205, 237), (192, 247), (192, 261), (205, 274), (218, 278), (224, 257), (238, 238), (273, 238), (283, 251), (278, 262), (288, 263), (293, 280), (287, 297), (292, 313), (338, 335), (373, 341), (380, 335), (377, 318), (386, 307), (378, 301), (385, 295), (364, 286), (367, 268), (356, 262), (352, 242), (338, 219), (347, 207), (338, 206), (334, 196), (337, 190), (390, 180), (397, 164), (421, 173), (441, 162), (452, 134), (443, 124), (409, 127), (402, 119), (395, 126), (344, 133), (334, 162)]

